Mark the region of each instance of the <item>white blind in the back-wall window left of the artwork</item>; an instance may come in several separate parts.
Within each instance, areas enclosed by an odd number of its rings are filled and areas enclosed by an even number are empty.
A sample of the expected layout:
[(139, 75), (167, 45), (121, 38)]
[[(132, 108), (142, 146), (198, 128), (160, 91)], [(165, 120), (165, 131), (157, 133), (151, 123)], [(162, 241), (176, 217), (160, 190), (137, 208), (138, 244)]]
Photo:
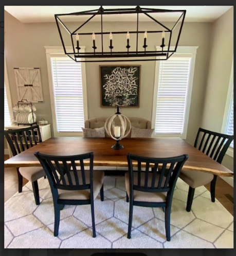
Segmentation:
[(84, 127), (81, 63), (52, 57), (52, 82), (58, 132), (80, 132)]

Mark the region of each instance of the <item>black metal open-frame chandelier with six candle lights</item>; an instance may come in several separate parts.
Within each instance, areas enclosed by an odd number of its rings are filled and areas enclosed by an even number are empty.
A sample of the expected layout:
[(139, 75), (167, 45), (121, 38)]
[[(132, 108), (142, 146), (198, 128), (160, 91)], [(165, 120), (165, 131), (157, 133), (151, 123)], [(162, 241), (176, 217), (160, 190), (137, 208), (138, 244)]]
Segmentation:
[[(104, 17), (109, 15), (134, 14), (136, 28), (132, 31), (104, 31)], [(176, 20), (172, 26), (162, 24), (165, 15), (173, 14)], [(181, 30), (185, 20), (186, 10), (166, 10), (152, 8), (125, 8), (125, 9), (104, 9), (102, 6), (96, 10), (88, 10), (74, 13), (55, 14), (57, 28), (63, 45), (64, 53), (76, 62), (125, 62), (125, 61), (150, 61), (150, 60), (167, 60), (175, 52), (178, 46)], [(158, 30), (140, 29), (140, 18), (145, 16), (150, 21), (154, 21)], [(155, 15), (155, 18), (153, 18)], [(89, 18), (79, 27), (69, 28), (70, 18)], [(86, 32), (83, 30), (84, 25), (99, 17), (99, 31)], [(63, 21), (65, 19), (66, 21)], [(146, 19), (146, 21), (147, 21)], [(83, 19), (84, 20), (84, 19)], [(71, 21), (71, 19), (70, 19)], [(142, 24), (143, 27), (143, 24)], [(63, 31), (64, 30), (64, 31)], [(155, 43), (159, 49), (154, 50), (154, 45), (148, 46), (148, 35), (152, 38), (152, 44)], [(86, 47), (86, 52), (80, 48), (81, 41), (84, 37), (90, 37), (90, 46)], [(120, 38), (118, 46), (114, 46), (115, 37)], [(65, 38), (67, 37), (67, 38)], [(69, 38), (68, 38), (69, 37)], [(132, 39), (131, 39), (132, 37)], [(66, 49), (65, 41), (70, 42), (70, 49)], [(99, 46), (97, 43), (99, 42)], [(87, 45), (87, 43), (86, 43)]]

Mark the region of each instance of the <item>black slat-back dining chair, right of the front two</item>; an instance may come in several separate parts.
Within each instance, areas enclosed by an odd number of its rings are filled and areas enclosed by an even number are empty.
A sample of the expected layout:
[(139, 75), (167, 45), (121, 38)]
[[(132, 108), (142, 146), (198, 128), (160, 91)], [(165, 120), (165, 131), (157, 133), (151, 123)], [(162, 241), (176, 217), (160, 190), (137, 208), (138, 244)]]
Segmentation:
[[(149, 158), (127, 154), (129, 172), (125, 173), (125, 187), (130, 201), (128, 238), (131, 238), (133, 207), (165, 208), (165, 227), (167, 241), (170, 241), (170, 214), (174, 187), (188, 155), (170, 158)], [(133, 161), (138, 171), (133, 170)], [(146, 165), (145, 172), (141, 164)], [(149, 167), (153, 167), (150, 172)], [(159, 170), (158, 170), (159, 169)]]

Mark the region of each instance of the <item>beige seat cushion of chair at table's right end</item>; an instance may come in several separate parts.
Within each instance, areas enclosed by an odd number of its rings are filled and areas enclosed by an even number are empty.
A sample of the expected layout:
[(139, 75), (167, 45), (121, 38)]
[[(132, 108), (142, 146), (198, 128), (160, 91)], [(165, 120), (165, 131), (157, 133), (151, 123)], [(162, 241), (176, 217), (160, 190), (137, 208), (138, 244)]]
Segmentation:
[(195, 189), (206, 185), (214, 178), (213, 174), (199, 172), (197, 170), (181, 170), (179, 178)]

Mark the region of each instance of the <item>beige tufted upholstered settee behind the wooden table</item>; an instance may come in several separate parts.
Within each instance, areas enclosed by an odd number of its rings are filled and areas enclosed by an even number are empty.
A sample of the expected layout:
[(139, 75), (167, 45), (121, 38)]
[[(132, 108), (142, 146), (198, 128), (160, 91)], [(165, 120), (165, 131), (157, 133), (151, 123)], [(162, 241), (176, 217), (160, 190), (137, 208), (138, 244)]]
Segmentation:
[[(131, 123), (131, 126), (140, 129), (151, 129), (152, 122), (144, 118), (139, 117), (128, 117)], [(101, 128), (104, 127), (107, 117), (95, 117), (90, 118), (84, 122), (84, 128)], [(129, 127), (126, 127), (126, 130), (129, 130)], [(108, 137), (108, 134), (105, 132), (105, 137)], [(126, 138), (131, 138), (131, 131)], [(128, 170), (128, 167), (117, 167), (117, 166), (94, 166), (95, 170)]]

